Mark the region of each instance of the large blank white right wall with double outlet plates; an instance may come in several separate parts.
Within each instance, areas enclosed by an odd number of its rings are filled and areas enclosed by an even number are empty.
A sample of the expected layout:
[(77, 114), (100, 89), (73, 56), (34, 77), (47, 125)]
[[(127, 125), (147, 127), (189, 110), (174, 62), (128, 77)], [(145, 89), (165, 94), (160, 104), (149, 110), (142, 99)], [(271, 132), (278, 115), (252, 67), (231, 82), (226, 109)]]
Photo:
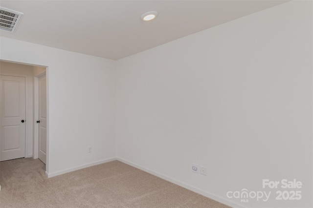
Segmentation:
[[(312, 2), (291, 1), (117, 61), (117, 157), (229, 205), (313, 207), (312, 37)], [(226, 197), (243, 188), (271, 195)]]

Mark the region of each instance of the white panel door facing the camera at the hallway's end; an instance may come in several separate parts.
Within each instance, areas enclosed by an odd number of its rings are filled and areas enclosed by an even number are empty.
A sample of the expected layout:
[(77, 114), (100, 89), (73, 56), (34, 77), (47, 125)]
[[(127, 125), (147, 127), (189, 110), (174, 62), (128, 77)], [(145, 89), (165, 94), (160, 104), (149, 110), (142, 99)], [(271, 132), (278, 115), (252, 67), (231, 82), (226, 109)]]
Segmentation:
[(25, 157), (25, 78), (0, 75), (1, 161)]

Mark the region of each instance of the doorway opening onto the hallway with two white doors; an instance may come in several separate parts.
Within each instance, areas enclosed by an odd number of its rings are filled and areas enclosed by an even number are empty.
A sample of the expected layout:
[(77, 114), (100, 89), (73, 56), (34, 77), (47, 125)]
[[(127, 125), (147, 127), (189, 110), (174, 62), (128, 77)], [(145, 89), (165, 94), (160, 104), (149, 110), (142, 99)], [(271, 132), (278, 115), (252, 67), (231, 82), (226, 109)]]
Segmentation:
[(46, 71), (46, 66), (0, 61), (0, 161), (40, 155), (47, 170)]

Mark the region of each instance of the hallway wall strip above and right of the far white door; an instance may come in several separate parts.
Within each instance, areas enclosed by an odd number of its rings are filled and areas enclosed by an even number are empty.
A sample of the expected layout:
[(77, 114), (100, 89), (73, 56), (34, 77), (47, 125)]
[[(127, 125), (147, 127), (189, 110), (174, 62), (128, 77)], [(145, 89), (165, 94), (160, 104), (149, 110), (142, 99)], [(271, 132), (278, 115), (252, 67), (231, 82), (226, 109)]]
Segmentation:
[(0, 72), (4, 75), (23, 75), (26, 80), (26, 129), (25, 157), (33, 156), (33, 66), (10, 62), (0, 62)]

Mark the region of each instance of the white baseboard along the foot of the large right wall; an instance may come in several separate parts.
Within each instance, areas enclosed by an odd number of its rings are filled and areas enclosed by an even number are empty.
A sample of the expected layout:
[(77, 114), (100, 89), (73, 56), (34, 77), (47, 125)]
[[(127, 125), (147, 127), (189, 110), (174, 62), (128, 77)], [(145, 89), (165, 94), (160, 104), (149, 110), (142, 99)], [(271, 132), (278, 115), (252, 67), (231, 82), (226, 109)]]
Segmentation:
[(134, 163), (129, 162), (129, 161), (127, 161), (127, 160), (124, 160), (124, 159), (122, 159), (122, 158), (117, 157), (116, 160), (118, 160), (118, 161), (120, 161), (120, 162), (122, 162), (122, 163), (125, 163), (125, 164), (127, 164), (127, 165), (136, 167), (136, 168), (138, 168), (138, 169), (140, 169), (140, 170), (143, 170), (143, 171), (148, 172), (148, 173), (150, 173), (150, 174), (152, 174), (152, 175), (155, 175), (155, 176), (157, 176), (157, 177), (159, 177), (159, 178), (161, 178), (161, 179), (164, 179), (164, 180), (166, 180), (166, 181), (169, 181), (169, 182), (171, 182), (171, 183), (173, 183), (173, 184), (176, 184), (176, 185), (178, 185), (178, 186), (180, 186), (180, 187), (184, 187), (184, 188), (186, 188), (186, 189), (188, 189), (188, 190), (191, 190), (191, 191), (194, 191), (194, 192), (196, 192), (196, 193), (199, 193), (199, 194), (201, 194), (201, 195), (203, 195), (203, 196), (206, 196), (206, 197), (208, 197), (208, 198), (210, 198), (210, 199), (213, 199), (213, 200), (215, 200), (215, 201), (218, 201), (218, 202), (223, 203), (223, 204), (225, 204), (225, 205), (228, 205), (228, 206), (230, 206), (230, 207), (233, 207), (233, 208), (243, 208), (242, 205), (238, 205), (238, 204), (236, 204), (236, 203), (230, 202), (230, 201), (228, 201), (227, 199), (224, 199), (224, 198), (221, 198), (221, 197), (216, 196), (216, 195), (214, 195), (214, 194), (208, 193), (208, 192), (206, 192), (206, 191), (204, 191), (204, 190), (201, 190), (201, 189), (199, 189), (199, 188), (197, 188), (197, 187), (193, 187), (193, 186), (191, 186), (191, 185), (189, 185), (189, 184), (186, 184), (186, 183), (184, 183), (184, 182), (178, 181), (178, 180), (176, 180), (176, 179), (173, 179), (173, 178), (171, 178), (171, 177), (165, 176), (165, 175), (163, 175), (163, 174), (157, 173), (157, 172), (155, 172), (155, 171), (153, 171), (153, 170), (150, 170), (150, 169), (148, 169), (148, 168), (139, 166), (139, 165), (137, 165), (137, 164), (134, 164)]

